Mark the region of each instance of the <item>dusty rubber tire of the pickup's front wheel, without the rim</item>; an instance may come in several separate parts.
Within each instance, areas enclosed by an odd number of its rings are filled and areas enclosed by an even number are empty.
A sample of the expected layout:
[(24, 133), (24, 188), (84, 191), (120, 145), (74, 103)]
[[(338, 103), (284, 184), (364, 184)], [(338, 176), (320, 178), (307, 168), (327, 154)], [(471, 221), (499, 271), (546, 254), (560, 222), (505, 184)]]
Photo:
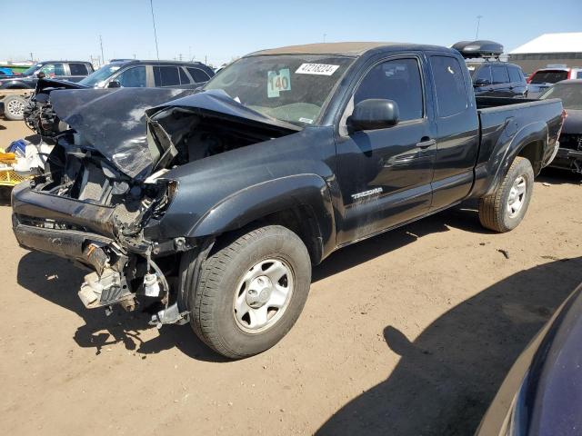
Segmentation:
[[(279, 225), (260, 227), (233, 239), (210, 253), (201, 266), (196, 288), (187, 293), (187, 301), (196, 335), (223, 356), (241, 359), (271, 348), (293, 327), (309, 292), (311, 263), (296, 233)], [(245, 332), (234, 314), (238, 284), (254, 265), (271, 258), (290, 267), (292, 293), (285, 311), (264, 332)]]

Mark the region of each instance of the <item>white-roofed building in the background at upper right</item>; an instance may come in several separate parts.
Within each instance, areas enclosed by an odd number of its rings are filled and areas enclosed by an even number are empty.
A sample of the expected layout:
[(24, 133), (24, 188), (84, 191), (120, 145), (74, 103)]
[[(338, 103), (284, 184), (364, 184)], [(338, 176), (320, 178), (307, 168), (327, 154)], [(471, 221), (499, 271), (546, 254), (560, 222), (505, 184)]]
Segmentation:
[(544, 34), (509, 52), (509, 62), (524, 73), (533, 73), (547, 65), (582, 66), (582, 32)]

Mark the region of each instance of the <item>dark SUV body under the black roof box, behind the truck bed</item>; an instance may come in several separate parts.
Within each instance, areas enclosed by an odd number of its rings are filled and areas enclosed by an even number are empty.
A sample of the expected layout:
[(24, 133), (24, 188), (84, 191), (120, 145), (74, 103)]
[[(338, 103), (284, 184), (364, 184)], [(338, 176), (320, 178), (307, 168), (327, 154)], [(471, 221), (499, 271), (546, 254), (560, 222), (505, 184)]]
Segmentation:
[(527, 82), (516, 64), (507, 62), (467, 63), (475, 95), (481, 97), (526, 97)]

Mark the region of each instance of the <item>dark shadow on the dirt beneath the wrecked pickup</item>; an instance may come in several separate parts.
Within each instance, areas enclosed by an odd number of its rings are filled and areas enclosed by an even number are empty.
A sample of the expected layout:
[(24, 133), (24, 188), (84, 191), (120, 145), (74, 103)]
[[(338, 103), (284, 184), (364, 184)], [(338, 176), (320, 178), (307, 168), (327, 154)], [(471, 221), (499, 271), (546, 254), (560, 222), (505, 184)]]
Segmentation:
[[(425, 220), (409, 224), (390, 233), (356, 243), (334, 253), (324, 263), (314, 268), (313, 281), (344, 271), (358, 263), (396, 250), (429, 233), (447, 232), (449, 226), (463, 228), (469, 232), (484, 233), (471, 209), (457, 208)], [(85, 309), (76, 291), (87, 272), (72, 263), (45, 253), (26, 253), (18, 264), (18, 283), (25, 289), (75, 312), (85, 321), (85, 325), (75, 332), (75, 342), (81, 347), (95, 348), (99, 354), (109, 345), (122, 342), (125, 348), (143, 354), (163, 352), (177, 347), (186, 355), (210, 362), (226, 362), (211, 352), (199, 341), (189, 325), (164, 326), (159, 335), (143, 339), (143, 332), (155, 327), (147, 322), (147, 312), (126, 313), (116, 308), (110, 316), (102, 309)], [(151, 335), (147, 335), (148, 337)]]

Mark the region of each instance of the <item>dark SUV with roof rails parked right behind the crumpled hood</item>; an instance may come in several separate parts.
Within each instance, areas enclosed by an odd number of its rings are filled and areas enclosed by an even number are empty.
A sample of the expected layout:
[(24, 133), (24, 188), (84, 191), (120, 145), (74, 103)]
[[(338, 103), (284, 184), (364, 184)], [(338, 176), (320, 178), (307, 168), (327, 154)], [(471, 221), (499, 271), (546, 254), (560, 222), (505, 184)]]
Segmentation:
[(196, 88), (215, 72), (200, 62), (116, 61), (106, 64), (79, 84), (95, 88)]

